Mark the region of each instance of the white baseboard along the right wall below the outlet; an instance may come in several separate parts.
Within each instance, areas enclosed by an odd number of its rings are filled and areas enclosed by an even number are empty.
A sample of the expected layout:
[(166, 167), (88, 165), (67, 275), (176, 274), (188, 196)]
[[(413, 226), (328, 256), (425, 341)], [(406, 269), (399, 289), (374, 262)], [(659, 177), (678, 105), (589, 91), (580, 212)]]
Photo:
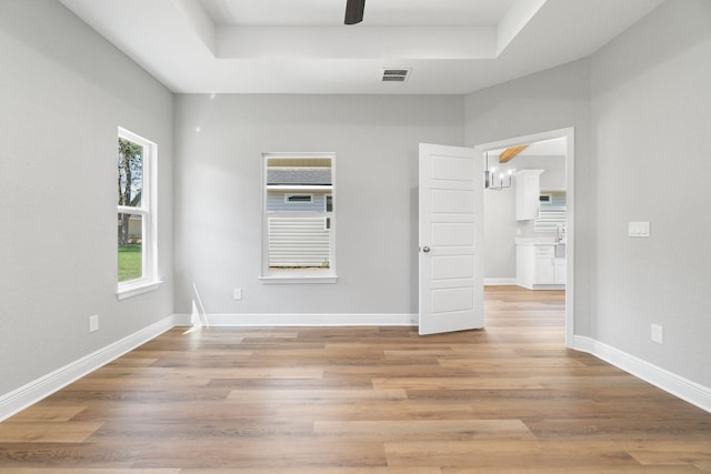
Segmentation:
[(652, 385), (711, 413), (711, 389), (590, 337), (574, 336), (575, 350), (588, 352)]

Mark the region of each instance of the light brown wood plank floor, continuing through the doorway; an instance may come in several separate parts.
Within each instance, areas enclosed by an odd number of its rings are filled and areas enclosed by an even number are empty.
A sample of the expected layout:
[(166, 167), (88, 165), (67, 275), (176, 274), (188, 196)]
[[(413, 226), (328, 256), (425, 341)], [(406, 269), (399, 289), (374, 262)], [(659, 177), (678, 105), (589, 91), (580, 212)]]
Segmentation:
[(487, 330), (174, 329), (0, 424), (0, 473), (711, 472), (711, 414), (563, 347), (563, 294)]

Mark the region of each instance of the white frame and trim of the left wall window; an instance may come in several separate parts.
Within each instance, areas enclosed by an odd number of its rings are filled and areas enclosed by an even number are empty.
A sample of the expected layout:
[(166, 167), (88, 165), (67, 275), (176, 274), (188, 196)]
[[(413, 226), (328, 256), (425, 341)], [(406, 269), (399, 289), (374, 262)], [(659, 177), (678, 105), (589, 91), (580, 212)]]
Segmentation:
[[(140, 208), (117, 205), (117, 213), (128, 213), (141, 216), (142, 271), (141, 278), (118, 281), (117, 252), (117, 291), (119, 300), (126, 300), (139, 294), (158, 290), (162, 281), (158, 278), (158, 144), (119, 127), (117, 140), (124, 139), (143, 147), (142, 195)], [(118, 250), (118, 242), (117, 242)]]

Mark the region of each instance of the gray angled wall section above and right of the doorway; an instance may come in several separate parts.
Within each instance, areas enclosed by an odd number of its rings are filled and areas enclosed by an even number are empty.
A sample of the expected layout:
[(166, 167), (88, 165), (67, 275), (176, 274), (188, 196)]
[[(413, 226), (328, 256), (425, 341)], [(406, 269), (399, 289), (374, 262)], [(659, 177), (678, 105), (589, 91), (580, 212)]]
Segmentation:
[(590, 180), (594, 172), (590, 153), (590, 61), (571, 62), (468, 94), (464, 120), (465, 142), (472, 147), (575, 128), (574, 329), (577, 334), (590, 335), (595, 219)]

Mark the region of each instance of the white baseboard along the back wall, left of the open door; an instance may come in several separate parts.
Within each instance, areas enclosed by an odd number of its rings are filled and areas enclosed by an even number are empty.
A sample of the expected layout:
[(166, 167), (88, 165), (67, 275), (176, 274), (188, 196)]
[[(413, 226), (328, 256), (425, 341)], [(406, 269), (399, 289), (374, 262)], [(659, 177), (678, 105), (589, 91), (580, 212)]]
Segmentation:
[[(417, 314), (307, 314), (307, 313), (228, 313), (208, 314), (211, 326), (412, 326)], [(190, 314), (176, 314), (176, 325), (188, 326)]]

